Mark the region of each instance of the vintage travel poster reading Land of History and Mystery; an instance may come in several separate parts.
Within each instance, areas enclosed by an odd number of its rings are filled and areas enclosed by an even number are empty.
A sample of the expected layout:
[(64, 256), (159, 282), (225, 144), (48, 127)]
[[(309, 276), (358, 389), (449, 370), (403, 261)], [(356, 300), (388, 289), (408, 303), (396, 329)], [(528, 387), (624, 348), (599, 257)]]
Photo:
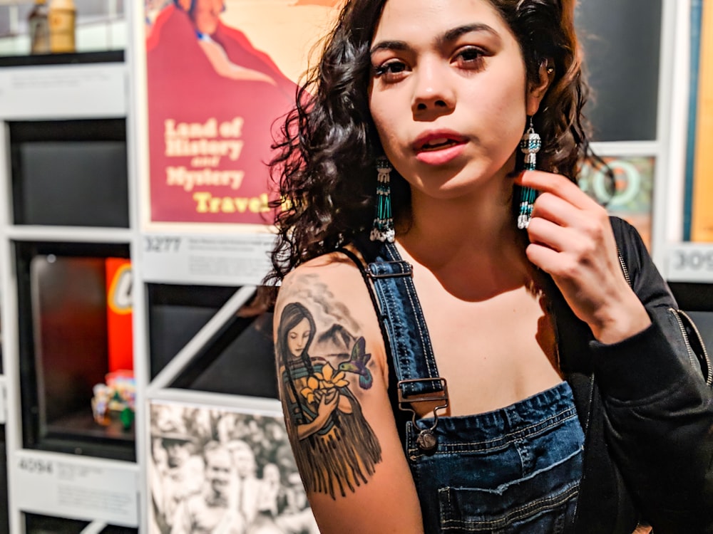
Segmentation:
[(266, 163), (341, 0), (146, 0), (150, 221), (270, 224)]

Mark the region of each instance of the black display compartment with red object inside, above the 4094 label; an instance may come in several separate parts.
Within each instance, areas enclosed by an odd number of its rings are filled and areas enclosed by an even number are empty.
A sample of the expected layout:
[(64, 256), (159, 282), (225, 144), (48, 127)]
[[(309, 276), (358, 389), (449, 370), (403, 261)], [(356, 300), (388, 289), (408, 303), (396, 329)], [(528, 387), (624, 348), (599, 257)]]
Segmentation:
[(117, 368), (127, 358), (113, 353), (108, 276), (113, 261), (128, 260), (128, 246), (16, 242), (15, 255), (24, 446), (135, 459), (130, 384), (106, 399), (108, 409), (96, 406), (98, 388), (131, 371)]

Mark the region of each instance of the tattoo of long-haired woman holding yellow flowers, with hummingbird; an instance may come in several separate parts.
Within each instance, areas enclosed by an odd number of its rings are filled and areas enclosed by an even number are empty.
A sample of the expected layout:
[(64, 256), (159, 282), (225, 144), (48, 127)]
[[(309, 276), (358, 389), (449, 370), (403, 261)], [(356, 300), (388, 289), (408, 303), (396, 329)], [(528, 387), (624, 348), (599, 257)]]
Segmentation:
[[(297, 422), (290, 439), (297, 464), (309, 466), (303, 473), (308, 491), (344, 496), (347, 488), (354, 491), (366, 483), (366, 476), (374, 473), (381, 459), (379, 443), (350, 389), (352, 382), (363, 389), (370, 386), (371, 375), (364, 365), (369, 355), (364, 354), (360, 338), (354, 343), (352, 358), (335, 369), (324, 357), (309, 355), (316, 333), (307, 308), (299, 303), (284, 307), (277, 334), (279, 376), (286, 390), (284, 410)], [(347, 372), (356, 373), (352, 382)], [(315, 462), (316, 457), (329, 461)]]

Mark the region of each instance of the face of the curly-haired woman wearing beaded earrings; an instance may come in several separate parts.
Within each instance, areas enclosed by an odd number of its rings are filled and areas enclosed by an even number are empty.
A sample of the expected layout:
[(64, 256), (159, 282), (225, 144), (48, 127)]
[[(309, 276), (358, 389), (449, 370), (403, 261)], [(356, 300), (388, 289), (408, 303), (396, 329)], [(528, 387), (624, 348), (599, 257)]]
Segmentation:
[(539, 98), (518, 42), (487, 0), (388, 0), (371, 65), (371, 116), (414, 196), (458, 197), (514, 170)]

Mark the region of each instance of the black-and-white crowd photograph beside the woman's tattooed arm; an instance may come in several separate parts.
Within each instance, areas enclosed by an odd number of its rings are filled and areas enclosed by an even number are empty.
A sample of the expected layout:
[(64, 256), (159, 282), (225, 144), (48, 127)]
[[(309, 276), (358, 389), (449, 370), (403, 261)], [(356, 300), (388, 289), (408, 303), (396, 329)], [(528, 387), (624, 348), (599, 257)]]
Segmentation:
[(150, 404), (150, 534), (318, 534), (281, 416)]

